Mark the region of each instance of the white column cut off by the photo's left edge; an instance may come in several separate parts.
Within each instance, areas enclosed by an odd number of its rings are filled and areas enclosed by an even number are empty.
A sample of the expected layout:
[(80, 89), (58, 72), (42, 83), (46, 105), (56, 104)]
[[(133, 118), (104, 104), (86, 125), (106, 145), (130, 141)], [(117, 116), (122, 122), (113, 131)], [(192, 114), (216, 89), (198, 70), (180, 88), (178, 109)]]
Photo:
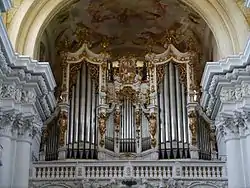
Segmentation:
[(12, 128), (13, 116), (0, 116), (0, 187), (11, 186), (12, 170)]

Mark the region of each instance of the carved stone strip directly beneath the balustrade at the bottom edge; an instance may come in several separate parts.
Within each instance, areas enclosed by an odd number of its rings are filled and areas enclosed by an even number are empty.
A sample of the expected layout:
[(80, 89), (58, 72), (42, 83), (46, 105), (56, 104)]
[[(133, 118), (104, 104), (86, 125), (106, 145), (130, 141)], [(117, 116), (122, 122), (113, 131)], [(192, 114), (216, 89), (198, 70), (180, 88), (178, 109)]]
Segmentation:
[(65, 188), (227, 188), (227, 182), (225, 181), (201, 181), (201, 180), (177, 180), (173, 178), (169, 179), (156, 179), (151, 180), (147, 178), (132, 178), (132, 179), (120, 179), (112, 178), (110, 180), (95, 180), (84, 179), (78, 181), (46, 181), (46, 182), (30, 182), (31, 188), (50, 188), (50, 187), (65, 187)]

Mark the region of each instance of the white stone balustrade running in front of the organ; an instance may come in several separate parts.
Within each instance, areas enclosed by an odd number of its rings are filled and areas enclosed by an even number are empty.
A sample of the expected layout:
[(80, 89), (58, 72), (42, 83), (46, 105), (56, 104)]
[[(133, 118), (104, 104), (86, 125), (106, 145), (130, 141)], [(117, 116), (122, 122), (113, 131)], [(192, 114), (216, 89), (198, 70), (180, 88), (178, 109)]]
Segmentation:
[(223, 162), (206, 161), (76, 161), (33, 164), (30, 180), (110, 178), (226, 180)]

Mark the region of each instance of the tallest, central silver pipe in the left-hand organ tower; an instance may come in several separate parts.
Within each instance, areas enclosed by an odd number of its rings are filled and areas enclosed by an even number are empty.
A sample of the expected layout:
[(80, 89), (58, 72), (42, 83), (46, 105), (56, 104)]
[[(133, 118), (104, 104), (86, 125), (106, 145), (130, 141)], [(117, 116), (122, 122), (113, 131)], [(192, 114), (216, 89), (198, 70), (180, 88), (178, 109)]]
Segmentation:
[(82, 90), (81, 90), (81, 131), (80, 131), (80, 140), (84, 141), (84, 125), (85, 125), (85, 104), (86, 104), (86, 64), (83, 64), (82, 66)]

